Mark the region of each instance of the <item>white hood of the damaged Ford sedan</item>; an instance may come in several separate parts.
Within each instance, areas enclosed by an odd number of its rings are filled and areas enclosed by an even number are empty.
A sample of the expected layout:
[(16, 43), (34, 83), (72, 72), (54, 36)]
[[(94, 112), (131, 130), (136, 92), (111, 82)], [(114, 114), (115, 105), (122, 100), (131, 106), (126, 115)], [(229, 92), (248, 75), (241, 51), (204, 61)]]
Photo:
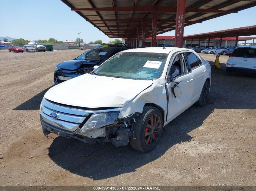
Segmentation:
[(152, 80), (131, 80), (84, 74), (50, 88), (44, 97), (70, 106), (124, 107), (152, 83)]

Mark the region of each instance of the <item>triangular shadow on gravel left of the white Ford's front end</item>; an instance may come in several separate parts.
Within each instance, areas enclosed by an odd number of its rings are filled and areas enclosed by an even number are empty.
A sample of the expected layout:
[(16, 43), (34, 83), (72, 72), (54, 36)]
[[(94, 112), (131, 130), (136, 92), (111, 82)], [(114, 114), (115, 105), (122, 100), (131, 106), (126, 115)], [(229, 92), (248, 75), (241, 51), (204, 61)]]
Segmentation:
[(34, 97), (15, 107), (13, 110), (39, 110), (40, 103), (45, 93), (48, 91), (48, 89), (52, 88), (53, 86), (54, 85), (45, 89), (44, 91), (41, 91), (39, 94), (36, 94)]

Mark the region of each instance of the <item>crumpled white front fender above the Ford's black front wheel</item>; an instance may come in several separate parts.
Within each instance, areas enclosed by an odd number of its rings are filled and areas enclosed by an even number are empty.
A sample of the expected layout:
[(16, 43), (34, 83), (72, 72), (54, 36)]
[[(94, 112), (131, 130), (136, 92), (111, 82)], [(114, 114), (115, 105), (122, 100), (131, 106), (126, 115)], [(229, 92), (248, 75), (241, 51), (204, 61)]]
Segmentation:
[[(165, 85), (161, 84), (161, 80), (153, 80), (153, 84), (135, 96), (120, 111), (118, 118), (122, 119), (132, 113), (142, 113), (146, 103), (155, 103), (159, 107), (166, 110), (167, 99)], [(165, 113), (166, 114), (166, 113)]]

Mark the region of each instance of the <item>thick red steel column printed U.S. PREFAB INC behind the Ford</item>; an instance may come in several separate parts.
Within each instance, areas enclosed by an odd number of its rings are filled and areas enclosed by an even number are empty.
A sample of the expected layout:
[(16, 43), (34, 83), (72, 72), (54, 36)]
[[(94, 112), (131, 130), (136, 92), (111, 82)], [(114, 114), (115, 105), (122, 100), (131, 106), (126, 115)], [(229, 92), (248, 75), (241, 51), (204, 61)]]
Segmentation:
[(177, 0), (176, 27), (174, 46), (182, 48), (184, 36), (186, 0)]

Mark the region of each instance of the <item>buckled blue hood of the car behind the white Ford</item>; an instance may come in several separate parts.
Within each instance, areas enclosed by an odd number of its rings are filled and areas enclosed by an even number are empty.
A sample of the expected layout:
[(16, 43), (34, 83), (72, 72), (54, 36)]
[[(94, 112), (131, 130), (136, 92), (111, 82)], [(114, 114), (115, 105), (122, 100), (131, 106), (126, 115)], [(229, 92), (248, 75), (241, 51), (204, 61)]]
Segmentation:
[(89, 60), (68, 60), (59, 63), (56, 67), (66, 70), (76, 70), (78, 69), (82, 64), (89, 64), (89, 65), (96, 65), (99, 62), (96, 61), (89, 61)]

